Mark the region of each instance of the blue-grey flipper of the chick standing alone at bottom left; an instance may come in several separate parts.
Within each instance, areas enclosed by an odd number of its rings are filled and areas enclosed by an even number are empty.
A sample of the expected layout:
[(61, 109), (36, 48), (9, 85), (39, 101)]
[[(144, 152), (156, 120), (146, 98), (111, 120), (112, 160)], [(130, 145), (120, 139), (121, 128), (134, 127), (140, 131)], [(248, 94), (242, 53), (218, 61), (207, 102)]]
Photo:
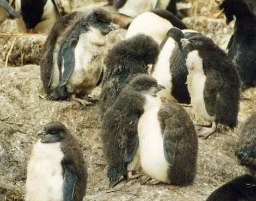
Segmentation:
[(77, 175), (72, 173), (69, 168), (65, 169), (63, 185), (63, 201), (72, 201), (76, 190)]

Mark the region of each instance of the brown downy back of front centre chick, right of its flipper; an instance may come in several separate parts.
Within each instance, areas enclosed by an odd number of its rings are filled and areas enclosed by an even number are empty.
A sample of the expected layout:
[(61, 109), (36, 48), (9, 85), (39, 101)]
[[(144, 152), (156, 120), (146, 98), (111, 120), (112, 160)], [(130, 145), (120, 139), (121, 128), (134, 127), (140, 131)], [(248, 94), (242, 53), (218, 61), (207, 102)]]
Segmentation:
[(172, 185), (191, 184), (197, 173), (198, 137), (187, 112), (175, 103), (161, 106), (158, 113), (164, 145), (174, 154), (174, 166), (169, 166), (168, 177)]

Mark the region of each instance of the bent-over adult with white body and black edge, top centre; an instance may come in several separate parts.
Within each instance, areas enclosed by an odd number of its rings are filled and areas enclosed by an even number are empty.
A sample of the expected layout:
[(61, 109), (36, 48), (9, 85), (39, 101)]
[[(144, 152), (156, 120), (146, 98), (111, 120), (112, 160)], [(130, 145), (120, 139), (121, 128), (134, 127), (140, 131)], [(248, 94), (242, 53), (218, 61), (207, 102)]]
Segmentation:
[(172, 13), (162, 9), (154, 9), (144, 12), (131, 22), (126, 33), (126, 39), (143, 33), (153, 37), (161, 44), (168, 30), (172, 27), (187, 29), (187, 26)]

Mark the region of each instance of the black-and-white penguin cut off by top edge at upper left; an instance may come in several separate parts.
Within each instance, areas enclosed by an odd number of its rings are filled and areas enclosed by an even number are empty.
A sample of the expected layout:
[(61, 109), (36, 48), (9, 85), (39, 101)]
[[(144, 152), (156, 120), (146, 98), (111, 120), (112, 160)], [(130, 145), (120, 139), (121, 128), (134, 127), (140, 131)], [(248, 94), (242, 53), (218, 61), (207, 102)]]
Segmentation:
[(16, 0), (15, 9), (22, 18), (17, 20), (20, 32), (48, 34), (60, 17), (56, 0)]

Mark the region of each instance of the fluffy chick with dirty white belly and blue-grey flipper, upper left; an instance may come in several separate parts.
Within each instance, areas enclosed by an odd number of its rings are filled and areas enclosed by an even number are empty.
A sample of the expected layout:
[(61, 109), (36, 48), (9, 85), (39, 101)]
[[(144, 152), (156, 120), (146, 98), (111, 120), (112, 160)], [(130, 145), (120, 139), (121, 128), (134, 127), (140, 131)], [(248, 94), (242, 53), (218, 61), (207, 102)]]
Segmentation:
[[(97, 9), (89, 14), (75, 12), (59, 20), (42, 52), (41, 79), (45, 92), (52, 100), (87, 96), (100, 84), (107, 34), (115, 29), (111, 17), (107, 11)], [(68, 24), (63, 26), (63, 21)]]

